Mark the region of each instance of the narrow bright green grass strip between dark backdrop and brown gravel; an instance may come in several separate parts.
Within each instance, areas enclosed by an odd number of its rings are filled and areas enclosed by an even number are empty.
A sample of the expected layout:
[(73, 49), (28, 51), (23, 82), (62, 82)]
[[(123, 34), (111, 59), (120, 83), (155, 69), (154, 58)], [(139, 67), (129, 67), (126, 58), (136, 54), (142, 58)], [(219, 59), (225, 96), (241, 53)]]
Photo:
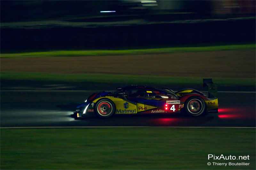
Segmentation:
[(1, 54), (0, 57), (11, 58), (11, 57), (92, 56), (92, 55), (138, 55), (138, 54), (155, 54), (155, 53), (239, 50), (239, 49), (249, 49), (249, 48), (255, 48), (255, 44), (222, 45), (222, 46), (208, 46), (208, 47), (128, 49), (128, 50), (63, 50), (63, 51)]

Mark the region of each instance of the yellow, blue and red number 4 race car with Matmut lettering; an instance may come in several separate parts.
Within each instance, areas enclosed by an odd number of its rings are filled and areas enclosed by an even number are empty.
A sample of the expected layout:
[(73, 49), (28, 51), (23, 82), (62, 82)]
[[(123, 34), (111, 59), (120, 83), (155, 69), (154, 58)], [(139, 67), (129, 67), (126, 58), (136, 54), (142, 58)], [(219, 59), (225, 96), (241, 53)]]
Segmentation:
[(157, 89), (146, 85), (117, 87), (115, 92), (97, 92), (76, 107), (75, 116), (84, 117), (93, 112), (108, 118), (115, 114), (159, 114), (185, 112), (190, 116), (218, 113), (217, 84), (204, 79), (208, 94), (195, 89), (173, 92), (169, 88)]

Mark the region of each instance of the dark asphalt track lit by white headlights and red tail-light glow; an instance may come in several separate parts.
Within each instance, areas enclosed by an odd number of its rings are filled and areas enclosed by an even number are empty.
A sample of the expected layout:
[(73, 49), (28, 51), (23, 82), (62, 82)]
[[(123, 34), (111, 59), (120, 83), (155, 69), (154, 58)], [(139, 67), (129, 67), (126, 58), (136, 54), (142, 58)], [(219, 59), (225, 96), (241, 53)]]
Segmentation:
[(98, 119), (92, 115), (75, 120), (72, 114), (76, 105), (84, 102), (92, 92), (1, 90), (1, 127), (255, 127), (255, 92), (220, 92), (219, 113), (206, 116), (115, 115), (109, 119)]

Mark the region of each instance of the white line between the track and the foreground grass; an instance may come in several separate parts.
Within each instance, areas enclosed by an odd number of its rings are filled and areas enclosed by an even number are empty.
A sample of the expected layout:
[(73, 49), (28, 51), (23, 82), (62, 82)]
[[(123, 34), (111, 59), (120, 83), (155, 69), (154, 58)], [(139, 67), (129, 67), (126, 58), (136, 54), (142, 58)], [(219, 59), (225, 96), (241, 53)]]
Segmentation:
[(51, 127), (0, 127), (0, 129), (64, 129), (64, 128), (224, 128), (224, 129), (256, 129), (256, 127), (214, 127), (214, 126), (209, 126), (209, 127), (185, 127), (185, 126), (51, 126)]

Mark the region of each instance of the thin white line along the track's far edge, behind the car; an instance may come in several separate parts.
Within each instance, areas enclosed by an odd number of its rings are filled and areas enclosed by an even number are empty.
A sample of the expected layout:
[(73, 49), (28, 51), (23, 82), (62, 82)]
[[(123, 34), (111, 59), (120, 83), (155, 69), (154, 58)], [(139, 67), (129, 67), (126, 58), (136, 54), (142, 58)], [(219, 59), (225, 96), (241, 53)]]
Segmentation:
[[(1, 90), (0, 92), (102, 92), (103, 90)], [(115, 91), (105, 91), (115, 92)], [(206, 91), (203, 91), (206, 92)], [(218, 93), (256, 93), (256, 92), (239, 92), (239, 91), (220, 91)]]

